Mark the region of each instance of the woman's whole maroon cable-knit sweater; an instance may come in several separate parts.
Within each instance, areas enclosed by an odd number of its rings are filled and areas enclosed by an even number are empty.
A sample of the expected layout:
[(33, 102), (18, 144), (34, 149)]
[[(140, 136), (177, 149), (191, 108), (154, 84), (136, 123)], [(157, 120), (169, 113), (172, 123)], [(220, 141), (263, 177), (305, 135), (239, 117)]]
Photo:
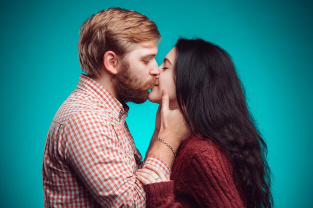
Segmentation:
[[(171, 181), (144, 185), (147, 208), (245, 208), (245, 196), (232, 177), (232, 166), (210, 140), (183, 141)], [(237, 188), (238, 187), (238, 188)]]

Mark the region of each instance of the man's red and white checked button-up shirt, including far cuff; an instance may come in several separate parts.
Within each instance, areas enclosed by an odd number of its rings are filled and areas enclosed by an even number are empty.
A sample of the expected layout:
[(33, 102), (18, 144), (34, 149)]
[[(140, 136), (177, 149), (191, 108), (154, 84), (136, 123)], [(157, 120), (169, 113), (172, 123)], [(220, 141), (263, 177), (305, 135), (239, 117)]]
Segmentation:
[[(81, 74), (56, 112), (46, 138), (42, 177), (45, 208), (143, 208), (145, 193), (134, 173), (142, 157), (122, 105)], [(170, 169), (149, 156), (164, 173)]]

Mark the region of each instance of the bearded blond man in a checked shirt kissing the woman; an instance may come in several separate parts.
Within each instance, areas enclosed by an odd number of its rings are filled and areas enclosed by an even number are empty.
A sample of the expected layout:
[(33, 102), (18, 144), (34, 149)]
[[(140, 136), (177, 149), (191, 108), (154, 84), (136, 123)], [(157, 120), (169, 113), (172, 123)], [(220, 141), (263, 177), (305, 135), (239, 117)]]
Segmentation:
[[(56, 112), (46, 138), (45, 208), (145, 207), (136, 170), (152, 165), (170, 174), (174, 155), (165, 142), (151, 142), (142, 164), (125, 123), (125, 102), (144, 102), (158, 78), (159, 38), (154, 22), (121, 8), (102, 10), (81, 25), (78, 51), (86, 75)], [(155, 135), (175, 150), (188, 134), (181, 118), (179, 110), (169, 110), (164, 91)]]

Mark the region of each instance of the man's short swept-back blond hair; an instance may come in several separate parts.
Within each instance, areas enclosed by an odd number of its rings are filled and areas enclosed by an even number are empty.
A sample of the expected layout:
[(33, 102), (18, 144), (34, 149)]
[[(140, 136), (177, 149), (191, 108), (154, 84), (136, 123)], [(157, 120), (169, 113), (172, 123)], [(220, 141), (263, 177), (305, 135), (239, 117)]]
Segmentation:
[(106, 51), (122, 58), (132, 43), (160, 40), (153, 21), (136, 11), (107, 8), (91, 15), (79, 30), (78, 53), (81, 69), (89, 76), (98, 76)]

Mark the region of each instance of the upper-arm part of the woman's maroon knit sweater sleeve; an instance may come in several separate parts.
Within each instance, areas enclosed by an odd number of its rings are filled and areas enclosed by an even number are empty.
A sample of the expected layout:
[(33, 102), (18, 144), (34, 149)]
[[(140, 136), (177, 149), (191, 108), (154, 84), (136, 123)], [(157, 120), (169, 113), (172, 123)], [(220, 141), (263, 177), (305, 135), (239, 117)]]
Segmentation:
[[(203, 207), (244, 208), (225, 155), (215, 148), (197, 154), (191, 161), (191, 176), (198, 183), (194, 196)], [(199, 183), (200, 182), (200, 183)], [(201, 207), (202, 207), (201, 206)]]

